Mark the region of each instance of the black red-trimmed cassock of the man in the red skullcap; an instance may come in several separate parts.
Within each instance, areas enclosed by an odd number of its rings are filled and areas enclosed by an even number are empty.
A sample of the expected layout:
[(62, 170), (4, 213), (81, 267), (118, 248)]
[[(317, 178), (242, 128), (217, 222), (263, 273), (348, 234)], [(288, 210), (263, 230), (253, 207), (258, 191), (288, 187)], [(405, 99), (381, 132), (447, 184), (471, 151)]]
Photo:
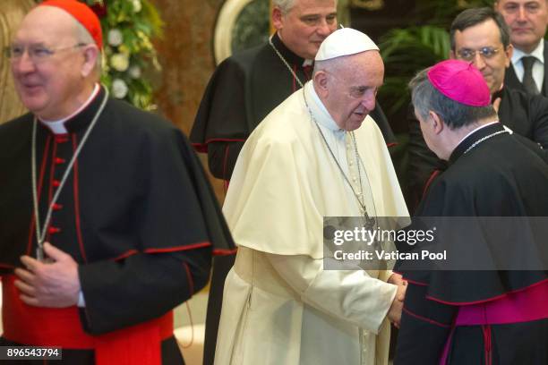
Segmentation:
[[(40, 228), (74, 150), (104, 98), (101, 89), (89, 106), (65, 122), (68, 133), (54, 134), (38, 123)], [(22, 254), (36, 257), (32, 121), (28, 114), (0, 126), (4, 279), (21, 267)], [(79, 264), (86, 303), (79, 310), (80, 322), (90, 335), (166, 314), (207, 284), (212, 252), (234, 248), (201, 163), (183, 133), (157, 115), (114, 99), (108, 99), (68, 175), (46, 240)], [(2, 341), (13, 343), (10, 338)], [(164, 363), (181, 363), (173, 335), (162, 341), (161, 349)], [(87, 350), (64, 349), (63, 355), (64, 361), (77, 364), (93, 363), (94, 358)]]

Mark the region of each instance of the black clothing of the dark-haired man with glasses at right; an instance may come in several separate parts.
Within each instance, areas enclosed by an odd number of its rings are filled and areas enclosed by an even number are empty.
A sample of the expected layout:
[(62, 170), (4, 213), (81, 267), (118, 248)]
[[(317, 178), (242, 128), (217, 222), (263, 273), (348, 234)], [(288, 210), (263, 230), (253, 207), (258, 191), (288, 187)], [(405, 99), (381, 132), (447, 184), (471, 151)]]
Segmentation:
[[(548, 149), (548, 98), (529, 96), (523, 91), (504, 88), (493, 95), (501, 98), (499, 120), (513, 132)], [(407, 206), (414, 210), (428, 185), (436, 175), (447, 167), (436, 157), (424, 142), (423, 133), (410, 107), (407, 113), (409, 123), (409, 166), (407, 167)], [(544, 151), (548, 154), (548, 152)]]

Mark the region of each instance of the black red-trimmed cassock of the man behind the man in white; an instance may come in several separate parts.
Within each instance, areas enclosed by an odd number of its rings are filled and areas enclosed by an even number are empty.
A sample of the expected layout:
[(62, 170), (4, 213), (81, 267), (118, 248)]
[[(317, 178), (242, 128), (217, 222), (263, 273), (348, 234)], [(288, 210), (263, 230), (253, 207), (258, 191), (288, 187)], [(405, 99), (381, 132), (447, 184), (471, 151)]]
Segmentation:
[[(291, 52), (277, 34), (272, 43), (301, 82), (312, 77), (311, 66)], [(218, 65), (201, 99), (190, 140), (207, 152), (210, 171), (218, 179), (230, 180), (244, 141), (262, 119), (289, 95), (301, 89), (287, 66), (269, 44), (233, 55)], [(384, 140), (396, 142), (390, 124), (377, 104), (371, 113)]]

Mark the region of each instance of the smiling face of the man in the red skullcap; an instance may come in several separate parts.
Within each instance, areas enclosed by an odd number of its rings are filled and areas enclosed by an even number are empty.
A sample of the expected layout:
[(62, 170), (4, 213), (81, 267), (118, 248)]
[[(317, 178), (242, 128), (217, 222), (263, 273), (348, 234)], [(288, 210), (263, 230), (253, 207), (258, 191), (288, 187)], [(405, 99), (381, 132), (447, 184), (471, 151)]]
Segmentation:
[(23, 19), (13, 39), (15, 88), (23, 105), (39, 118), (61, 119), (81, 104), (77, 98), (84, 56), (76, 34), (68, 13), (39, 6)]

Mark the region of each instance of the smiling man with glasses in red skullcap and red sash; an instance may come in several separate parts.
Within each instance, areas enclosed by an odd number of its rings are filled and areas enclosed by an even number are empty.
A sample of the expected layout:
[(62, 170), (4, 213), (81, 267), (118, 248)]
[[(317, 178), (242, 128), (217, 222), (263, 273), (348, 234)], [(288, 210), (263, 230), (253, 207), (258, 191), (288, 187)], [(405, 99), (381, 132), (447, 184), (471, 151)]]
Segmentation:
[(47, 0), (6, 51), (30, 113), (0, 126), (0, 346), (181, 364), (172, 310), (227, 227), (184, 135), (98, 84), (102, 39), (87, 5)]

